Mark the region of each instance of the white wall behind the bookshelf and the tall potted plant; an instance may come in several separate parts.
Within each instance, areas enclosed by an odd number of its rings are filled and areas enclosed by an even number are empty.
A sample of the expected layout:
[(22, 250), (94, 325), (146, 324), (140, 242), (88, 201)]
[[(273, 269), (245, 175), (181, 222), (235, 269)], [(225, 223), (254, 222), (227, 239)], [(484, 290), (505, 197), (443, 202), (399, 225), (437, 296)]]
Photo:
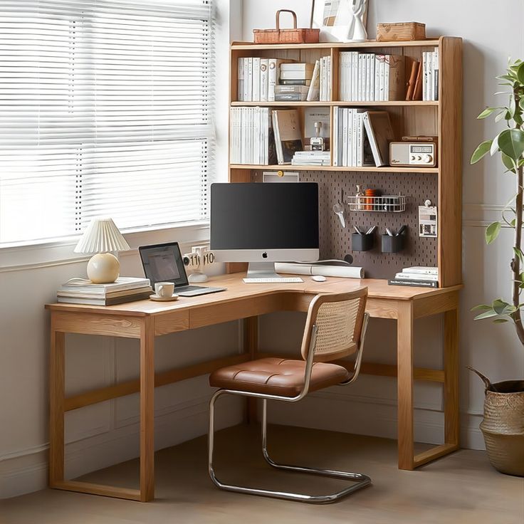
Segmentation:
[[(253, 28), (274, 27), (278, 9), (293, 9), (300, 27), (307, 27), (310, 19), (310, 1), (257, 0), (243, 1), (243, 38), (251, 41)], [(510, 298), (511, 230), (504, 229), (495, 245), (485, 246), (483, 227), (498, 219), (501, 206), (513, 191), (513, 176), (503, 174), (498, 160), (488, 159), (470, 166), (468, 159), (478, 143), (496, 134), (493, 120), (476, 120), (486, 105), (497, 105), (500, 97), (496, 75), (503, 73), (508, 57), (524, 58), (522, 0), (493, 2), (488, 0), (386, 1), (370, 0), (367, 28), (370, 38), (375, 36), (377, 22), (420, 21), (426, 23), (428, 36), (461, 36), (464, 40), (464, 96), (463, 96), (463, 278), (466, 287), (462, 293), (461, 311), (461, 412), (462, 441), (466, 446), (482, 447), (478, 431), (483, 407), (481, 382), (468, 372), (473, 365), (493, 381), (524, 376), (524, 350), (516, 339), (512, 326), (491, 323), (473, 323), (469, 309), (478, 303), (491, 301), (501, 295)], [(266, 330), (262, 341), (271, 345), (269, 333), (288, 328), (288, 337), (281, 349), (296, 342), (302, 319), (298, 315), (271, 315), (264, 320)], [(416, 330), (416, 359), (420, 365), (439, 365), (439, 340), (428, 339), (428, 333), (441, 334), (441, 323), (425, 320)], [(386, 335), (387, 334), (387, 335)], [(377, 362), (394, 360), (394, 327), (385, 320), (370, 324), (370, 343), (366, 346), (367, 359)], [(437, 353), (438, 354), (438, 353)], [(303, 410), (277, 409), (273, 420), (293, 424), (330, 425), (334, 429), (393, 436), (396, 433), (392, 379), (361, 377), (351, 391), (344, 394), (333, 389), (312, 397)], [(417, 384), (416, 434), (419, 439), (436, 442), (442, 438), (441, 392), (439, 387)], [(327, 409), (327, 407), (332, 409)], [(345, 416), (337, 417), (344, 409)], [(306, 414), (318, 418), (308, 421)]]

